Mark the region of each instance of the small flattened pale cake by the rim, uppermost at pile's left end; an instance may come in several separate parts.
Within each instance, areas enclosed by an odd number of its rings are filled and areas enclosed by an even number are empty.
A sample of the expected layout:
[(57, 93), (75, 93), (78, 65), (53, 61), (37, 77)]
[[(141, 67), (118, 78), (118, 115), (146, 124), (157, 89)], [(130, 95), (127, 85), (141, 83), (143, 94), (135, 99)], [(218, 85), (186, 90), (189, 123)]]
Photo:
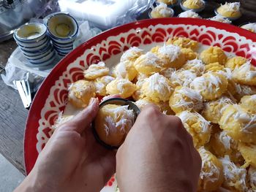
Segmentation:
[(88, 69), (86, 69), (83, 74), (87, 80), (95, 80), (98, 77), (108, 75), (109, 69), (105, 66), (104, 62), (99, 62), (98, 64), (91, 64)]

